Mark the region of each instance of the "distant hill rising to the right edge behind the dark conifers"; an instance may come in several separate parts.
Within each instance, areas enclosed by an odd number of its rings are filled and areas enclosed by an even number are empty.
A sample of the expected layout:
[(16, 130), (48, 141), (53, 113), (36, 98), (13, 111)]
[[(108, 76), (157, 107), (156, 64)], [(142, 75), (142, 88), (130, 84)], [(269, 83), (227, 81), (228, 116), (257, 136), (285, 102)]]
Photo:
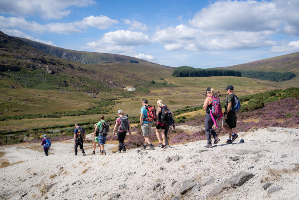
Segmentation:
[(253, 70), (253, 71), (274, 71), (274, 72), (293, 72), (299, 75), (299, 52), (281, 55), (273, 58), (266, 58), (245, 64), (237, 64), (230, 67), (217, 67), (218, 69), (230, 70)]

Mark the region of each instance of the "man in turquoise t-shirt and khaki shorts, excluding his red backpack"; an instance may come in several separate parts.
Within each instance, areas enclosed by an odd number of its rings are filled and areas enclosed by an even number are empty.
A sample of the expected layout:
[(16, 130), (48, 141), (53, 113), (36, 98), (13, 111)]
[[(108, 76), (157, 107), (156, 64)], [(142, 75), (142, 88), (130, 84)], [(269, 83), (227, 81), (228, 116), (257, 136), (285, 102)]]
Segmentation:
[(149, 140), (149, 134), (152, 130), (152, 121), (149, 122), (146, 120), (147, 118), (147, 99), (142, 99), (141, 100), (141, 103), (142, 103), (142, 108), (141, 108), (141, 111), (140, 111), (140, 125), (141, 125), (141, 130), (142, 130), (142, 134), (143, 134), (143, 137), (144, 137), (144, 145), (142, 145), (140, 148), (142, 150), (145, 150), (145, 148), (147, 147), (147, 144), (149, 144), (149, 149), (150, 150), (154, 150), (154, 145), (152, 145), (152, 143), (150, 142)]

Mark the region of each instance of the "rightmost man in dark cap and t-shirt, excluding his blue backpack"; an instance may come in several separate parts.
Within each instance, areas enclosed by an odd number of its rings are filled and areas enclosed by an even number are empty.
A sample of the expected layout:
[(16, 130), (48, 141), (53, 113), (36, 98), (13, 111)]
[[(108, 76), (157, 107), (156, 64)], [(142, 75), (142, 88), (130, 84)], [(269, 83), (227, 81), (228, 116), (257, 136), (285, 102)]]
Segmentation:
[(234, 86), (229, 85), (225, 90), (227, 90), (228, 96), (225, 99), (225, 113), (223, 113), (222, 127), (229, 135), (225, 143), (231, 144), (238, 137), (238, 135), (233, 132), (233, 128), (237, 126), (237, 115), (231, 110), (231, 106), (234, 104)]

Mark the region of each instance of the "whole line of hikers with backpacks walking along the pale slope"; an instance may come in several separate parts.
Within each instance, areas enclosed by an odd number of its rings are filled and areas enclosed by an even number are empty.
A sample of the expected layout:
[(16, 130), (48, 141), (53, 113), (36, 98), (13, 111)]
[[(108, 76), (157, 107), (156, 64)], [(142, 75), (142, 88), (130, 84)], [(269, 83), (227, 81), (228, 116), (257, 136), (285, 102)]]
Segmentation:
[[(238, 97), (234, 94), (234, 87), (232, 85), (229, 85), (227, 88), (228, 96), (225, 99), (225, 112), (222, 113), (221, 103), (219, 100), (220, 93), (217, 93), (214, 91), (213, 88), (208, 87), (206, 89), (206, 97), (203, 109), (206, 110), (205, 115), (205, 133), (207, 135), (207, 145), (204, 146), (204, 148), (211, 148), (212, 140), (211, 135), (214, 138), (213, 144), (217, 144), (220, 139), (218, 138), (218, 135), (213, 130), (213, 124), (215, 124), (216, 128), (218, 128), (216, 121), (221, 120), (221, 126), (219, 127), (219, 133), (221, 130), (221, 127), (228, 132), (228, 139), (225, 143), (232, 143), (235, 139), (237, 139), (238, 135), (233, 132), (233, 128), (236, 127), (237, 124), (237, 115), (236, 113), (240, 110), (240, 101)], [(148, 145), (149, 150), (154, 150), (155, 147), (152, 145), (149, 135), (151, 133), (153, 122), (157, 120), (155, 133), (157, 136), (157, 139), (159, 141), (159, 144), (157, 147), (161, 148), (169, 148), (170, 145), (167, 140), (167, 133), (170, 128), (175, 129), (175, 124), (173, 120), (173, 113), (170, 111), (170, 109), (163, 103), (162, 100), (157, 101), (158, 108), (156, 109), (155, 106), (149, 105), (147, 99), (141, 100), (142, 107), (140, 111), (140, 125), (142, 134), (144, 137), (144, 145), (142, 145), (140, 148), (142, 150), (145, 150)], [(123, 110), (118, 110), (118, 118), (115, 122), (113, 134), (115, 135), (117, 131), (117, 138), (119, 142), (118, 152), (126, 153), (126, 147), (124, 145), (124, 140), (126, 138), (127, 131), (129, 131), (129, 135), (132, 134), (131, 127), (128, 119), (128, 114), (124, 115)], [(106, 143), (106, 137), (109, 131), (109, 126), (111, 123), (108, 123), (104, 120), (104, 116), (100, 116), (100, 121), (97, 124), (94, 124), (94, 146), (93, 146), (93, 152), (92, 154), (95, 154), (96, 145), (98, 145), (100, 155), (106, 155), (106, 151), (104, 150), (104, 146)], [(75, 130), (74, 130), (74, 149), (75, 149), (75, 155), (77, 155), (77, 148), (80, 146), (80, 149), (85, 156), (83, 143), (85, 142), (86, 133), (82, 127), (79, 126), (78, 123), (75, 124)], [(161, 136), (160, 137), (159, 131), (161, 130)], [(218, 134), (219, 134), (218, 133)], [(49, 139), (46, 138), (46, 135), (44, 135), (44, 139), (42, 140), (42, 145), (44, 145), (44, 151), (46, 156), (48, 155), (48, 150), (50, 149), (48, 146), (48, 142), (50, 142)]]

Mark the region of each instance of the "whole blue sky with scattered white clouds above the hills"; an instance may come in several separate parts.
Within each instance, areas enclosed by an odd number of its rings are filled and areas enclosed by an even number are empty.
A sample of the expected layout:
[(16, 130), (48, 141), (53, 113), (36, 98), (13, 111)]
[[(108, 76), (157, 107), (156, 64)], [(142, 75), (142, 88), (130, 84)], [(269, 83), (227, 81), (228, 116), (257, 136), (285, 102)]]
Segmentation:
[(299, 52), (299, 1), (1, 0), (5, 34), (210, 68)]

